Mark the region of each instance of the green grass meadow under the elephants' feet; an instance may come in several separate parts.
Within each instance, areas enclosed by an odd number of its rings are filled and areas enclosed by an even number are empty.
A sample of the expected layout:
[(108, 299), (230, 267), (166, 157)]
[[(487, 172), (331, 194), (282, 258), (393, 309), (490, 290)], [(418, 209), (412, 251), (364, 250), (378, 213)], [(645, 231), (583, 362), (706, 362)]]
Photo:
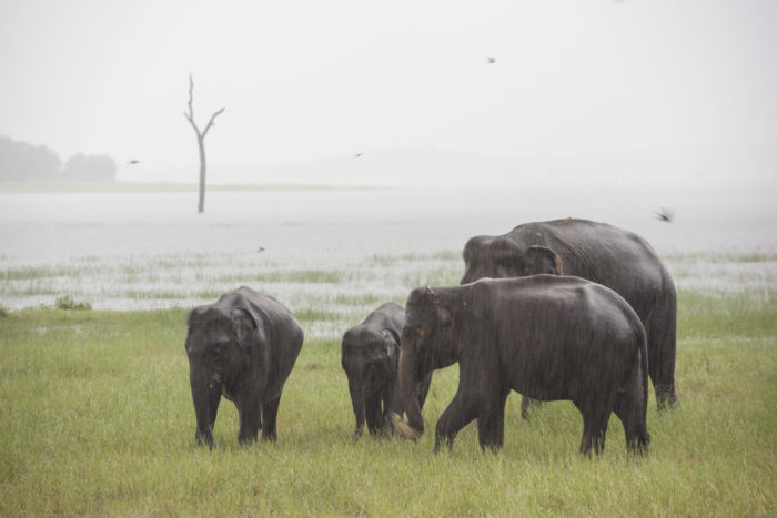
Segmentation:
[[(275, 275), (301, 283), (297, 301), (305, 286), (315, 295), (322, 283), (351, 282), (346, 272), (313, 273)], [(407, 268), (402, 276), (412, 284), (426, 274)], [(367, 292), (316, 296), (290, 306), (309, 336), (281, 402), (279, 441), (239, 446), (236, 412), (223, 400), (214, 433), (224, 447), (214, 451), (193, 444), (185, 309), (36, 308), (0, 317), (0, 515), (777, 512), (774, 284), (679, 291), (680, 406), (659, 415), (650, 394), (646, 458), (626, 455), (615, 416), (605, 454), (584, 458), (571, 403), (522, 421), (517, 395), (507, 400), (501, 453), (482, 453), (470, 425), (452, 451), (435, 456), (433, 429), (455, 392), (456, 366), (435, 373), (424, 407), (430, 433), (420, 441), (353, 443), (336, 336), (379, 302)]]

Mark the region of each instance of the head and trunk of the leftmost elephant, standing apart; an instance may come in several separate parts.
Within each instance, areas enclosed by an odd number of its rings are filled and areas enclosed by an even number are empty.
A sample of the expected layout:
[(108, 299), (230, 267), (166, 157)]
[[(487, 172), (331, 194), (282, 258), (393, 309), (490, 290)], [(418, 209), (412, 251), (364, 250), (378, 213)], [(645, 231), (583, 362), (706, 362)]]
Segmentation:
[[(194, 440), (212, 449), (213, 424), (221, 396), (233, 402), (245, 396), (242, 380), (252, 368), (250, 358), (259, 355), (256, 342), (262, 331), (248, 307), (232, 308), (228, 313), (214, 305), (200, 306), (191, 311), (186, 324), (189, 382), (196, 416)], [(266, 362), (253, 364), (263, 365), (264, 369), (268, 366)]]

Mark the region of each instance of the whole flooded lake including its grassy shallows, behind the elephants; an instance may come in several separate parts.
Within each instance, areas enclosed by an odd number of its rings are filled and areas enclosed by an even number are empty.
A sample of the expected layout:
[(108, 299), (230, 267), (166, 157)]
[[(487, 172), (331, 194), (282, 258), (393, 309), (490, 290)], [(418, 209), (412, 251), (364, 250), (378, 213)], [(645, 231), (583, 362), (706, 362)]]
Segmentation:
[[(213, 191), (205, 214), (196, 214), (194, 192), (0, 194), (0, 304), (18, 309), (69, 295), (94, 308), (189, 306), (249, 284), (290, 306), (362, 296), (366, 307), (402, 301), (415, 283), (457, 282), (473, 235), (568, 216), (640, 234), (680, 287), (773, 286), (773, 193), (730, 185)], [(655, 216), (665, 206), (676, 211), (672, 223)]]

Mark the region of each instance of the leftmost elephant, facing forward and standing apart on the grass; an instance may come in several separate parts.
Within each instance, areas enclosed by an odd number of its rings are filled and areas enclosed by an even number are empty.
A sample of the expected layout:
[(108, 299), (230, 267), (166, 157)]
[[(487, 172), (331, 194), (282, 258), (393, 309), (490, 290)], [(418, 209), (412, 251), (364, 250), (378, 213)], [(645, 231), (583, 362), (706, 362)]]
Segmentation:
[(213, 449), (221, 396), (238, 407), (241, 444), (255, 441), (260, 428), (263, 440), (276, 440), (283, 384), (303, 341), (294, 316), (274, 298), (242, 286), (192, 309), (186, 324), (195, 443)]

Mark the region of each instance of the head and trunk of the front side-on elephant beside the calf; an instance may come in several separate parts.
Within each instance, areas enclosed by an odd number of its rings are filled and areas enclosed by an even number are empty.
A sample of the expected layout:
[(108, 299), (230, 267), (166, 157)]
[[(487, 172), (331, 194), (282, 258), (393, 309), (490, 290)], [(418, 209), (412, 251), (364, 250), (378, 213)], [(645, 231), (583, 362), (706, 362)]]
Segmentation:
[(432, 370), (457, 362), (461, 353), (454, 314), (441, 302), (436, 290), (440, 288), (415, 288), (407, 298), (398, 378), (400, 397), (410, 429), (397, 426), (400, 434), (407, 438), (415, 438), (424, 431), (418, 397), (421, 382)]

